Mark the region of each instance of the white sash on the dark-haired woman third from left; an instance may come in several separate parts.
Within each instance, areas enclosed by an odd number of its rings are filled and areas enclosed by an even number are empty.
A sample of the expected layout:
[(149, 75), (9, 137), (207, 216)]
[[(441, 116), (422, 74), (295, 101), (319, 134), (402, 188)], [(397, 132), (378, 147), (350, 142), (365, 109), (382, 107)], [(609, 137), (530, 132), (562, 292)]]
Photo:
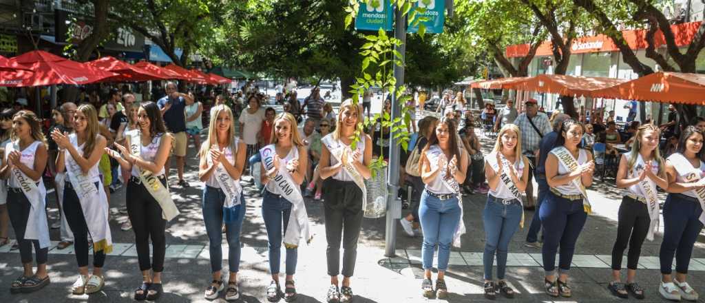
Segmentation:
[[(142, 153), (142, 132), (140, 132), (140, 130), (133, 130), (129, 132), (129, 135), (130, 154), (140, 156)], [(154, 176), (150, 171), (142, 171), (139, 167), (137, 167), (137, 171), (140, 173), (142, 185), (147, 188), (147, 192), (152, 194), (152, 197), (154, 197), (157, 203), (159, 203), (159, 206), (161, 206), (161, 218), (164, 218), (166, 221), (171, 221), (171, 219), (178, 216), (179, 211), (176, 208), (176, 204), (174, 204), (171, 199), (169, 190), (161, 184), (159, 178)]]

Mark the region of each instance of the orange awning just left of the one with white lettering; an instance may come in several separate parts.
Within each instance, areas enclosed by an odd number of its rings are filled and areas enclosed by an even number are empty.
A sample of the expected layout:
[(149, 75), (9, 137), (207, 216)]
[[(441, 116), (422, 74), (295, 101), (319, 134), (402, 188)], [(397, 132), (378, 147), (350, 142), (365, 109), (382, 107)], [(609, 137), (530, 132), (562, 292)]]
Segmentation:
[(571, 75), (537, 75), (527, 80), (513, 82), (504, 88), (532, 92), (548, 92), (566, 96), (595, 96), (594, 92), (620, 85), (627, 80), (603, 77), (577, 77)]

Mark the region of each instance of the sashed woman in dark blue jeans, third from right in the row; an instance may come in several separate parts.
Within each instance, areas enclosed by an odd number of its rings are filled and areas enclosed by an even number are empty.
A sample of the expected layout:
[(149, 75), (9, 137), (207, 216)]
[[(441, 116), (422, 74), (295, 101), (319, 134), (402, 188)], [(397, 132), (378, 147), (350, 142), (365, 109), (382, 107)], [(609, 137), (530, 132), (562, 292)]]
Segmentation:
[[(544, 226), (544, 246), (541, 249), (546, 271), (544, 287), (546, 294), (551, 297), (572, 296), (568, 286), (568, 271), (575, 242), (590, 211), (584, 187), (592, 184), (595, 166), (592, 154), (579, 147), (583, 132), (582, 124), (576, 120), (563, 121), (556, 147), (546, 159), (546, 182), (551, 190), (541, 205), (539, 218)], [(559, 245), (559, 276), (556, 278), (556, 252)]]

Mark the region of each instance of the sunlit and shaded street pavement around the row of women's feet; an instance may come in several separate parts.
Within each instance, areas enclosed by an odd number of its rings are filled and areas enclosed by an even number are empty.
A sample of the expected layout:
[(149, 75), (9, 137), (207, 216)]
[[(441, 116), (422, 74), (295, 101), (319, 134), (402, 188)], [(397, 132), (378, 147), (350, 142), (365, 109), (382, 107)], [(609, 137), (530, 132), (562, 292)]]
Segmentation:
[[(485, 150), (492, 141), (483, 138)], [(208, 237), (202, 221), (202, 183), (197, 181), (197, 159), (195, 148), (189, 149), (186, 180), (189, 188), (172, 187), (174, 201), (181, 211), (180, 216), (167, 223), (167, 250), (164, 271), (164, 295), (161, 302), (206, 302), (203, 292), (212, 280), (209, 267)], [(173, 168), (173, 166), (172, 166)], [(526, 227), (517, 231), (509, 248), (507, 279), (517, 290), (516, 302), (609, 302), (622, 301), (612, 297), (606, 289), (611, 280), (611, 250), (616, 236), (617, 210), (622, 192), (613, 185), (613, 180), (596, 182), (589, 190), (594, 214), (589, 216), (576, 247), (576, 256), (570, 271), (573, 297), (554, 299), (544, 294), (541, 266), (541, 250), (524, 246), (524, 240), (534, 212), (526, 213)], [(176, 184), (176, 171), (171, 173), (171, 184)], [(243, 180), (247, 215), (243, 223), (241, 257), (238, 283), (243, 293), (241, 302), (267, 302), (266, 287), (271, 280), (268, 269), (267, 237), (262, 221), (262, 198), (252, 183)], [(534, 185), (535, 186), (535, 185)], [(397, 223), (396, 256), (384, 256), (384, 218), (365, 218), (358, 245), (357, 266), (353, 278), (353, 302), (485, 302), (482, 282), (482, 252), (484, 230), (482, 209), (486, 197), (473, 194), (463, 198), (465, 214), (463, 220), (467, 234), (462, 237), (461, 247), (453, 247), (446, 283), (450, 291), (448, 299), (425, 299), (420, 292), (422, 279), (422, 237), (408, 237)], [(54, 194), (49, 194), (49, 224), (58, 218)], [(8, 252), (9, 245), (0, 248), (0, 302), (131, 302), (133, 291), (141, 283), (137, 266), (137, 254), (133, 246), (133, 231), (122, 231), (120, 225), (127, 220), (124, 208), (125, 187), (111, 197), (111, 230), (116, 243), (114, 252), (107, 257), (105, 265), (106, 285), (102, 292), (94, 295), (71, 295), (69, 288), (77, 278), (73, 247), (59, 250), (59, 230), (51, 230), (55, 240), (49, 252), (49, 276), (51, 284), (32, 294), (11, 295), (8, 288), (13, 278), (22, 273), (17, 251)], [(314, 233), (310, 245), (302, 245), (298, 253), (295, 275), (299, 292), (297, 302), (326, 302), (329, 278), (326, 276), (326, 240), (324, 229), (324, 202), (307, 199), (306, 207)], [(406, 214), (407, 210), (403, 213)], [(637, 281), (646, 288), (646, 299), (642, 302), (661, 302), (658, 296), (658, 249), (663, 228), (653, 242), (645, 242), (639, 261)], [(10, 233), (13, 235), (13, 232)], [(223, 254), (227, 257), (227, 245), (223, 242)], [(282, 252), (282, 264), (283, 256)], [(626, 261), (624, 262), (626, 264)], [(223, 261), (223, 272), (227, 261)], [(282, 271), (284, 266), (282, 266)], [(705, 295), (705, 236), (701, 235), (693, 251), (688, 282), (695, 290)], [(283, 277), (281, 278), (283, 281)], [(498, 298), (498, 301), (508, 299)], [(635, 299), (630, 299), (635, 300)], [(216, 302), (224, 302), (223, 295)], [(702, 299), (701, 299), (702, 301)], [(283, 302), (283, 300), (282, 300)], [(705, 301), (703, 301), (705, 302)]]

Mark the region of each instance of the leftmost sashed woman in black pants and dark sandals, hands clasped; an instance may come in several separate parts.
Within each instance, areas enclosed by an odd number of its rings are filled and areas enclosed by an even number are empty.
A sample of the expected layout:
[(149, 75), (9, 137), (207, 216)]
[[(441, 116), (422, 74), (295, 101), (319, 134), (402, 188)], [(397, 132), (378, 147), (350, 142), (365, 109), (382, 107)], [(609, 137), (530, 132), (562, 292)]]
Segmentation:
[[(0, 175), (8, 181), (7, 211), (20, 247), (24, 273), (12, 282), (11, 292), (34, 292), (49, 284), (47, 255), (47, 190), (42, 173), (47, 166), (47, 143), (39, 118), (31, 111), (18, 111), (12, 119), (11, 142), (5, 145)], [(32, 271), (32, 245), (37, 271)]]

